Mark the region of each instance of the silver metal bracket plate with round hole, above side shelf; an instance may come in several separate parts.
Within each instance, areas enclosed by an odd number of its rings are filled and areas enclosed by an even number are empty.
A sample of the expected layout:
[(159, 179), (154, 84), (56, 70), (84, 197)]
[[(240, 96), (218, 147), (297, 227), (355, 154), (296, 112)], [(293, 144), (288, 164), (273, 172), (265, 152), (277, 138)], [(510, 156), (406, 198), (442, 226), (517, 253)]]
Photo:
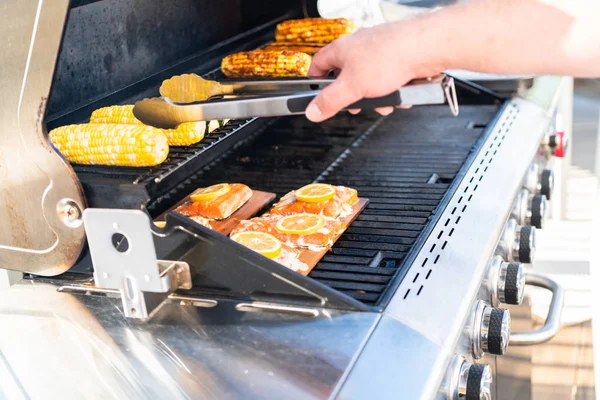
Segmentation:
[(83, 222), (96, 286), (121, 293), (128, 318), (148, 318), (177, 289), (191, 289), (190, 267), (156, 259), (150, 224), (140, 210), (88, 208)]

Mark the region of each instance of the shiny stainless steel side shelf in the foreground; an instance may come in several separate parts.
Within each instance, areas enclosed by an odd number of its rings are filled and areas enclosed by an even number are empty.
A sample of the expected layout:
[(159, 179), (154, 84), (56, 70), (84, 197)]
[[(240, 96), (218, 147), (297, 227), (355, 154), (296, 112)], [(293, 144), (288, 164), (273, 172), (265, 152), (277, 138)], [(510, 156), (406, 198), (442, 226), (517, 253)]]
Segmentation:
[(328, 398), (380, 316), (324, 312), (174, 303), (138, 324), (119, 299), (22, 282), (0, 294), (0, 376), (28, 398)]

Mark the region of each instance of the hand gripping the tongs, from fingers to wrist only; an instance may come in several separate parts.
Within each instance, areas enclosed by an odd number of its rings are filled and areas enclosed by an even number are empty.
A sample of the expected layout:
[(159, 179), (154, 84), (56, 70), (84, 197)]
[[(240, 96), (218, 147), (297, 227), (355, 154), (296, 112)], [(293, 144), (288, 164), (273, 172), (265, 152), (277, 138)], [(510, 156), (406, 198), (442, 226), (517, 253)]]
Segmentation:
[[(385, 96), (412, 79), (440, 72), (433, 56), (418, 43), (419, 31), (416, 20), (384, 24), (343, 36), (320, 50), (309, 76), (325, 76), (333, 70), (336, 80), (309, 104), (306, 117), (324, 121), (362, 98)], [(387, 115), (393, 107), (376, 111)]]

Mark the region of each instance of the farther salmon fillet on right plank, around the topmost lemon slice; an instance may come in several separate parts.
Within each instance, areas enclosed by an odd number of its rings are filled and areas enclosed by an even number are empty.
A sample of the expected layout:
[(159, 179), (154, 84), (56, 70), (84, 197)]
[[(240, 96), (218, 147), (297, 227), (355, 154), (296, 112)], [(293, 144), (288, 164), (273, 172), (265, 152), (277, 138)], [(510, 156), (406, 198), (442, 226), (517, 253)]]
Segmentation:
[(295, 191), (291, 191), (277, 202), (271, 214), (292, 215), (300, 213), (320, 214), (324, 217), (344, 218), (352, 214), (352, 205), (358, 201), (358, 192), (345, 186), (335, 187), (335, 196), (327, 201), (308, 203), (298, 201)]

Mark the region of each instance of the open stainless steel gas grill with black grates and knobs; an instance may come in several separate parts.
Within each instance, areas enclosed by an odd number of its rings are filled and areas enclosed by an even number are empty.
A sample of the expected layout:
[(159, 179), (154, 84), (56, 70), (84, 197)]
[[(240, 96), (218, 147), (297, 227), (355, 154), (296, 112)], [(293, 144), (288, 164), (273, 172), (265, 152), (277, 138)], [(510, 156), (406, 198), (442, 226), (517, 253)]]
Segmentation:
[[(69, 166), (48, 144), (47, 129), (154, 96), (165, 78), (218, 76), (224, 55), (309, 9), (0, 5), (0, 267), (25, 273), (0, 293), (0, 394), (508, 398), (496, 355), (559, 327), (560, 287), (524, 263), (564, 152), (565, 80), (537, 78), (522, 97), (459, 81), (458, 116), (434, 105), (230, 121), (153, 168)], [(278, 196), (327, 182), (370, 202), (304, 277), (180, 214), (151, 223), (223, 181)], [(549, 316), (511, 335), (503, 307), (526, 284), (553, 292)]]

